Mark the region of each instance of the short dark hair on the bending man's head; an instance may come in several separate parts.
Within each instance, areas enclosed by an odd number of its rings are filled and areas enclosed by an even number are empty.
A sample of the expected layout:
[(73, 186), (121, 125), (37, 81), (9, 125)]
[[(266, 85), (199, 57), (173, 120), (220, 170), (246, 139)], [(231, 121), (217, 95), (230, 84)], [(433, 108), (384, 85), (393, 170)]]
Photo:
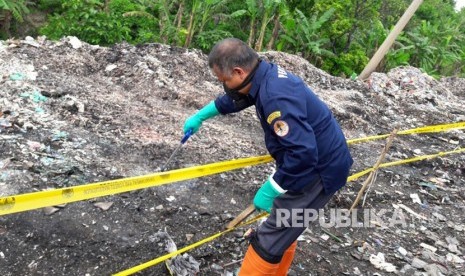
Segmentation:
[(257, 64), (258, 54), (237, 38), (218, 42), (208, 55), (208, 66), (216, 66), (221, 73), (229, 75), (234, 67), (251, 71)]

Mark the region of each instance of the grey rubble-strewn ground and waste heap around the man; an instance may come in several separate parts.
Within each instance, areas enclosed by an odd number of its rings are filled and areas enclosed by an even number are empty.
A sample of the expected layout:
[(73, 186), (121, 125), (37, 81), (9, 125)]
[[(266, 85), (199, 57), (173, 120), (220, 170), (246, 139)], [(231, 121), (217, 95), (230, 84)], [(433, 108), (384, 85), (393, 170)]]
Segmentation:
[[(330, 76), (298, 56), (262, 55), (301, 76), (348, 139), (465, 121), (465, 79), (437, 81), (404, 67), (361, 82)], [(0, 197), (153, 173), (179, 144), (184, 120), (221, 93), (200, 51), (105, 48), (71, 37), (1, 42), (0, 84)], [(384, 144), (351, 145), (352, 172), (372, 167)], [(399, 136), (385, 161), (464, 144), (463, 130)], [(250, 109), (206, 122), (170, 168), (264, 154)], [(0, 216), (0, 274), (110, 275), (145, 263), (167, 253), (160, 233), (182, 248), (221, 231), (272, 168)], [(299, 238), (290, 274), (465, 275), (464, 179), (463, 153), (380, 170), (364, 210), (400, 208), (405, 224), (314, 224)], [(350, 182), (328, 207), (349, 208), (363, 181)], [(247, 246), (245, 230), (189, 251), (198, 275), (232, 275)], [(160, 264), (138, 275), (168, 272)]]

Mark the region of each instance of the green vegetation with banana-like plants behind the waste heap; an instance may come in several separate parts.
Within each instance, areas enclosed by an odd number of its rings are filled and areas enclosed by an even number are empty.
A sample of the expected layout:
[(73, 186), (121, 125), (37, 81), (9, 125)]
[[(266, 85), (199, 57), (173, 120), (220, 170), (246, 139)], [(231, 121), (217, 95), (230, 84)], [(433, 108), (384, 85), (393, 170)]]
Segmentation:
[[(360, 73), (402, 16), (408, 0), (0, 0), (0, 38), (14, 36), (31, 10), (48, 14), (39, 34), (91, 44), (160, 42), (208, 52), (226, 37), (257, 51), (299, 54), (338, 76)], [(465, 77), (465, 9), (425, 0), (379, 65), (412, 65)]]

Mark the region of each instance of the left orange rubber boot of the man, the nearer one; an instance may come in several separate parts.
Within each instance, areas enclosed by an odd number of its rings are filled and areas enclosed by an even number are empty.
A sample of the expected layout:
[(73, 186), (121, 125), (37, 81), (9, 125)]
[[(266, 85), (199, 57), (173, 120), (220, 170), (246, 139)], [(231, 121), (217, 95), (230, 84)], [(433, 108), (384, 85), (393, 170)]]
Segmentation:
[(272, 264), (263, 260), (249, 245), (238, 276), (275, 276), (278, 266), (279, 263)]

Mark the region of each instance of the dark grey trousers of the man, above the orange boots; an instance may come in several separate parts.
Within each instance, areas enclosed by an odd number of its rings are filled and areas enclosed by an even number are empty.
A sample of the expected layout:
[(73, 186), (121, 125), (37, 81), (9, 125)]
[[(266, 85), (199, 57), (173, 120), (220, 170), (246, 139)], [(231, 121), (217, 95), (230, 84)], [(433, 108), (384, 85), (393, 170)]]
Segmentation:
[[(257, 229), (251, 244), (264, 260), (279, 263), (284, 251), (305, 231), (307, 227), (292, 227), (293, 217), (283, 222), (283, 213), (292, 214), (292, 209), (313, 209), (318, 211), (329, 202), (334, 195), (326, 194), (321, 180), (311, 183), (300, 192), (287, 192), (278, 196), (273, 202), (271, 214)], [(277, 212), (276, 209), (280, 209)], [(279, 217), (277, 216), (279, 213)], [(295, 219), (294, 219), (295, 222)], [(279, 224), (281, 224), (279, 226)], [(286, 227), (290, 225), (291, 227)]]

